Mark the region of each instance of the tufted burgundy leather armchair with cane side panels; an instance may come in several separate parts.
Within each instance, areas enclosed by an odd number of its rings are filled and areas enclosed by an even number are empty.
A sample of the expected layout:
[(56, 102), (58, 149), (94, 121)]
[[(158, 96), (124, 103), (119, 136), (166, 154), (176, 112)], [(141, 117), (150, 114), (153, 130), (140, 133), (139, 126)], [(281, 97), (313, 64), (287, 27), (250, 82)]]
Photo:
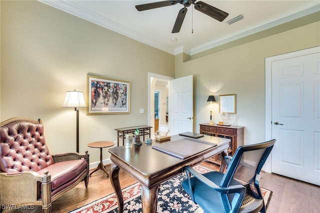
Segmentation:
[[(51, 211), (51, 202), (84, 180), (89, 180), (89, 154), (51, 155), (43, 124), (14, 117), (0, 124), (1, 208), (41, 205)], [(3, 210), (3, 209), (1, 209)]]

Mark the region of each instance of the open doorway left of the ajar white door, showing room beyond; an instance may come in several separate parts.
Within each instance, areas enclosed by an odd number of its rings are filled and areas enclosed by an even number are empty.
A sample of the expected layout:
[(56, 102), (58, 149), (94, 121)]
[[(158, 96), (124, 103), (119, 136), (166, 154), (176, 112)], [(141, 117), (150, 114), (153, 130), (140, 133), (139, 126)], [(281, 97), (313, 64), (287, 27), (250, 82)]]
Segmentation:
[[(171, 79), (173, 77), (148, 72), (148, 125), (152, 126), (152, 138), (156, 130), (165, 135), (170, 129), (169, 80)], [(170, 132), (167, 135), (170, 135)]]

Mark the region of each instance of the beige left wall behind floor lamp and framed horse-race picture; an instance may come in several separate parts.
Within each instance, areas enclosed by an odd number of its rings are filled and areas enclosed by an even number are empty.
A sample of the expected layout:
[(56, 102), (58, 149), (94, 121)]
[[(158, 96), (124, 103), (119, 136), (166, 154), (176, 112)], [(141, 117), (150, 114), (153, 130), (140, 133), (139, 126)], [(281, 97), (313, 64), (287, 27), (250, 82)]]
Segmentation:
[[(116, 140), (114, 128), (147, 124), (147, 73), (174, 74), (174, 56), (38, 1), (1, 2), (0, 120), (41, 118), (52, 154), (75, 151), (75, 111), (65, 91), (87, 96), (87, 74), (131, 81), (131, 113), (86, 115), (79, 109), (79, 151)], [(139, 113), (144, 108), (144, 113)], [(103, 149), (103, 158), (109, 158)]]

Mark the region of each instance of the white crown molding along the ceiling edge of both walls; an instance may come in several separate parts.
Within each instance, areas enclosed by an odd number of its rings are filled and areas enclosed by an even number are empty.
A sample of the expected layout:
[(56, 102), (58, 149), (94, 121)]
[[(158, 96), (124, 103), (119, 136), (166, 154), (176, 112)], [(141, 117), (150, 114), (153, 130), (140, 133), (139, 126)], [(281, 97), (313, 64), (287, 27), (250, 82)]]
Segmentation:
[(149, 36), (146, 36), (140, 32), (132, 30), (124, 25), (121, 25), (115, 21), (105, 18), (97, 13), (89, 11), (70, 1), (67, 1), (67, 0), (38, 0), (38, 1), (173, 55), (176, 55), (182, 52), (189, 55), (193, 55), (193, 54), (208, 50), (210, 48), (245, 37), (247, 35), (251, 35), (256, 32), (260, 32), (262, 30), (269, 29), (271, 27), (280, 25), (282, 23), (286, 23), (288, 21), (320, 11), (320, 1), (312, 1), (311, 3), (297, 10), (290, 11), (281, 16), (277, 16), (275, 18), (266, 20), (252, 27), (242, 29), (240, 31), (229, 34), (222, 38), (209, 41), (207, 43), (201, 44), (192, 49), (187, 49), (187, 48), (184, 48), (183, 46), (178, 46), (175, 49), (172, 49), (167, 45), (164, 45), (163, 43), (160, 43)]

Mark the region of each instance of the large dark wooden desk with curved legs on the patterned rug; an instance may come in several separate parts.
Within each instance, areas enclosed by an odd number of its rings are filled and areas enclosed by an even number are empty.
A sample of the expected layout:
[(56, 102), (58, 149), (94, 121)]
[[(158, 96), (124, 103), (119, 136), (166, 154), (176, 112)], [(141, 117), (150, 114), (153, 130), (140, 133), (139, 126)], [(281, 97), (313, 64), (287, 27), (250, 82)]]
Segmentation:
[[(172, 135), (171, 141), (181, 138), (184, 138), (184, 136)], [(125, 148), (124, 146), (110, 148), (108, 150), (111, 153), (110, 159), (112, 161), (110, 181), (117, 197), (118, 212), (123, 212), (124, 204), (118, 176), (120, 168), (141, 184), (142, 212), (156, 213), (157, 188), (160, 183), (181, 173), (186, 165), (193, 166), (212, 155), (220, 152), (225, 153), (230, 142), (229, 139), (209, 135), (204, 135), (199, 139), (215, 142), (217, 145), (185, 159), (152, 148), (152, 145), (165, 143), (165, 141), (152, 140), (152, 144), (142, 143), (142, 145), (135, 145), (132, 148)], [(224, 167), (224, 164), (221, 165), (220, 170), (224, 170)]]

